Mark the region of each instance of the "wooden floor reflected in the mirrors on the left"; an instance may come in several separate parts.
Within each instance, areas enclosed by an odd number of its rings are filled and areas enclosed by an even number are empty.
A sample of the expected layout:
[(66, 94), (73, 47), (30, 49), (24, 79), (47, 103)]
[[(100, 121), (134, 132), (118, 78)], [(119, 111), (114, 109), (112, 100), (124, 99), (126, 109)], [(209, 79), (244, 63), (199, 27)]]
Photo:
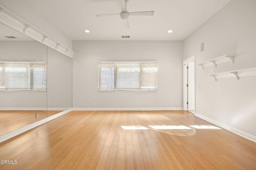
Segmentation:
[[(50, 117), (62, 111), (46, 110), (19, 110), (19, 111), (0, 111), (0, 135), (6, 134), (18, 128), (30, 125), (46, 117)], [(36, 113), (39, 117), (36, 119)]]

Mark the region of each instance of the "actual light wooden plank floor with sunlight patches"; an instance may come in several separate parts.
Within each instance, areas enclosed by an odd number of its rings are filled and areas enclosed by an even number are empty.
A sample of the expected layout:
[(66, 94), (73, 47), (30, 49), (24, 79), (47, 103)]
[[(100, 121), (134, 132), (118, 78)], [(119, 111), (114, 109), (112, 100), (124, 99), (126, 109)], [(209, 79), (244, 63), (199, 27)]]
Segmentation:
[(255, 170), (256, 143), (214, 127), (186, 111), (72, 111), (0, 143), (17, 160), (0, 169)]

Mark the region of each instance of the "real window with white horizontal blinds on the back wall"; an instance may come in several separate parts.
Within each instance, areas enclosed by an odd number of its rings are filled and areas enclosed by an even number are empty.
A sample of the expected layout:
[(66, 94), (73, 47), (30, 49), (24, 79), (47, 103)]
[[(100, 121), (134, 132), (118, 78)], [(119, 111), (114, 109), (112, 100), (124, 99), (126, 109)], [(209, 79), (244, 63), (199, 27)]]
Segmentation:
[(99, 90), (156, 90), (156, 61), (98, 62)]

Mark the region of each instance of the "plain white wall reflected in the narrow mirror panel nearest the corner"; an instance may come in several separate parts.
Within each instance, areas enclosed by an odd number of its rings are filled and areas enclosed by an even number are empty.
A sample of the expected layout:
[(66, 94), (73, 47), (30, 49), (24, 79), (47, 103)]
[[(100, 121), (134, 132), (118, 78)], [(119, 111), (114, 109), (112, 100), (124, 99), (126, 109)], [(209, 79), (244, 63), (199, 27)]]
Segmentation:
[(72, 58), (50, 47), (47, 47), (47, 103), (48, 110), (72, 108)]

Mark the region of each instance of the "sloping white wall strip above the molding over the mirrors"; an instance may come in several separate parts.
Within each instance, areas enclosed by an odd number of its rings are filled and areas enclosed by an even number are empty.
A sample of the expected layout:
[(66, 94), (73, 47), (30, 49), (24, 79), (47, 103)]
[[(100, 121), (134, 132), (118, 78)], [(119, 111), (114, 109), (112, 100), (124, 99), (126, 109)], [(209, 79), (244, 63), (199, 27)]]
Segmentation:
[[(29, 8), (28, 2), (24, 0), (0, 0), (0, 5), (72, 49), (72, 40), (42, 18), (35, 10)], [(47, 9), (45, 11), (47, 12)]]

